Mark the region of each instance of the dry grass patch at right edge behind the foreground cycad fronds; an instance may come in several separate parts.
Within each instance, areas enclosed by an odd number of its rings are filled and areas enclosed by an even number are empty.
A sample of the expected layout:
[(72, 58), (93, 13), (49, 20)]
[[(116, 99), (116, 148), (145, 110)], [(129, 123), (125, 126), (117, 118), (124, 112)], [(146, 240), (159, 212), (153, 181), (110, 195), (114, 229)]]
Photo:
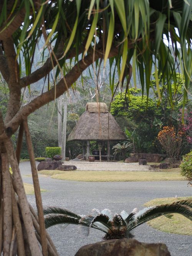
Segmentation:
[[(180, 198), (156, 198), (153, 199), (146, 204), (145, 206), (153, 206), (159, 205), (164, 203), (172, 203), (182, 199), (192, 199), (192, 197), (180, 197)], [(192, 235), (192, 224), (189, 219), (184, 217), (181, 214), (173, 214), (171, 219), (168, 219), (165, 216), (158, 217), (151, 221), (148, 221), (147, 224), (152, 228), (156, 228), (160, 231), (164, 231), (167, 233), (174, 233), (174, 234), (185, 234), (185, 235)]]

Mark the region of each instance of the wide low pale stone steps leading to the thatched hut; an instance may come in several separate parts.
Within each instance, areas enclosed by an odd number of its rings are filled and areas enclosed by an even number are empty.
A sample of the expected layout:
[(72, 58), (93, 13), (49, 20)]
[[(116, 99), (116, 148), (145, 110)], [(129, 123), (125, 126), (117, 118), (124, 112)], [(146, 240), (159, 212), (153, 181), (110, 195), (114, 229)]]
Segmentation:
[(79, 171), (151, 171), (149, 165), (119, 162), (64, 161), (64, 165), (75, 165)]

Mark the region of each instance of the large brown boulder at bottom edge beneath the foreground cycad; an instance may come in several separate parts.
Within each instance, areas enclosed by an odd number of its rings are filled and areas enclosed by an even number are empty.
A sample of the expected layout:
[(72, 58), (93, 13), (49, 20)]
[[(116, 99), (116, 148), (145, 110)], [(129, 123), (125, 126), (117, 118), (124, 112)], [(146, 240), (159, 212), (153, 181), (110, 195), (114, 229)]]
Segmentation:
[(75, 256), (170, 256), (166, 244), (140, 243), (135, 239), (113, 239), (88, 244), (79, 249)]

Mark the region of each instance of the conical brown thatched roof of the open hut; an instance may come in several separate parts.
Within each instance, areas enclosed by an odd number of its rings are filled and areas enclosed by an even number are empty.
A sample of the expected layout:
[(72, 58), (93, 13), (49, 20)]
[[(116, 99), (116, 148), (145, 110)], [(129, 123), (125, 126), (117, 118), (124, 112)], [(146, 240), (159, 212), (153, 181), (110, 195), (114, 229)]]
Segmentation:
[(126, 140), (126, 135), (121, 130), (118, 123), (115, 121), (114, 117), (110, 113), (108, 113), (106, 104), (100, 103), (101, 111), (99, 113), (98, 105), (99, 103), (87, 103), (86, 111), (83, 113), (83, 115), (80, 116), (78, 123), (68, 136), (68, 141)]

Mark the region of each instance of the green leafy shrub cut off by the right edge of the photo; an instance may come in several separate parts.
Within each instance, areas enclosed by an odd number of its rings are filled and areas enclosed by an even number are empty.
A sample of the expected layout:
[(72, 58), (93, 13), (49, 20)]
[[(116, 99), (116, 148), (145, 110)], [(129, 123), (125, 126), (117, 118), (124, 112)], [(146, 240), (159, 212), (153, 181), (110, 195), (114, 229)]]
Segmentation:
[(183, 157), (180, 164), (181, 175), (184, 176), (191, 186), (192, 186), (192, 151)]

